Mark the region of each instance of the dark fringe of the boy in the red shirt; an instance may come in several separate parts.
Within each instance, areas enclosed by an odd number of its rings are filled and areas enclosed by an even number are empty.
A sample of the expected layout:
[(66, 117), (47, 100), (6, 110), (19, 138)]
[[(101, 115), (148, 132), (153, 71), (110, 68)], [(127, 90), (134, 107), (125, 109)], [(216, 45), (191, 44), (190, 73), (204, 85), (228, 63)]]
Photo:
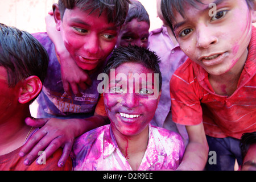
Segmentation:
[[(255, 0), (245, 0), (249, 9), (253, 9)], [(164, 20), (168, 23), (168, 26), (173, 28), (172, 25), (175, 22), (174, 11), (177, 11), (183, 18), (185, 17), (185, 7), (192, 6), (198, 9), (198, 3), (204, 5), (200, 0), (161, 0), (161, 11)]]

